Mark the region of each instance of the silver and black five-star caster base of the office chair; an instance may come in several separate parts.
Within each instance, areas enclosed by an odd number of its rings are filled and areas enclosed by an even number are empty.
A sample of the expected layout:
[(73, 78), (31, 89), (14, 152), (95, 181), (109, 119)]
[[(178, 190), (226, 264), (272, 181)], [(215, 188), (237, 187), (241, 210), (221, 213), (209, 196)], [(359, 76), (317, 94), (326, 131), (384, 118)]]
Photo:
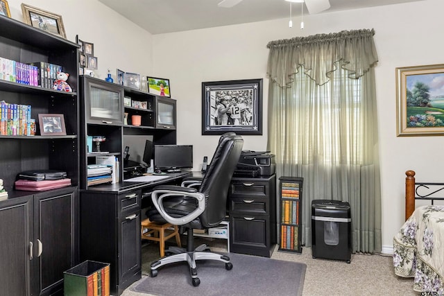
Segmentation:
[[(189, 250), (191, 249), (191, 250)], [(207, 245), (199, 245), (193, 250), (193, 229), (189, 228), (187, 231), (187, 250), (182, 247), (169, 247), (167, 253), (172, 253), (171, 256), (165, 256), (157, 261), (151, 263), (151, 277), (157, 276), (157, 268), (164, 265), (176, 262), (187, 261), (189, 265), (189, 272), (191, 274), (191, 281), (193, 286), (197, 287), (200, 284), (200, 279), (197, 277), (198, 260), (216, 260), (225, 263), (226, 270), (232, 270), (233, 265), (230, 262), (230, 257), (216, 254), (212, 252), (204, 252), (207, 250)]]

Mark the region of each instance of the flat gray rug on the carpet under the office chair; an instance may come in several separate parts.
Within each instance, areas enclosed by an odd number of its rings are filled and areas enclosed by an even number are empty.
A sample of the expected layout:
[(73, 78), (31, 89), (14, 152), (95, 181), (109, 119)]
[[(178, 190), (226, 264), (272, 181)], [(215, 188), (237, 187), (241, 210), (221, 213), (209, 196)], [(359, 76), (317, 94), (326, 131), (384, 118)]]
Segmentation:
[(260, 256), (226, 254), (233, 264), (225, 270), (220, 261), (198, 261), (200, 285), (191, 284), (187, 263), (159, 268), (157, 277), (143, 277), (133, 287), (151, 295), (302, 295), (307, 265)]

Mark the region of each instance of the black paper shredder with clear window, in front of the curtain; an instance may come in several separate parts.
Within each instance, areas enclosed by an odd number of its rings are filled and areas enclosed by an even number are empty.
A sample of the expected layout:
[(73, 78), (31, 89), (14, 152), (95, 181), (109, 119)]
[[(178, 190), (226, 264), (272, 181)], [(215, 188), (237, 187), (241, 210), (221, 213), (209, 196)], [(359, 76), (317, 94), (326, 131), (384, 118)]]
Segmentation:
[(350, 204), (339, 200), (311, 202), (311, 254), (313, 258), (343, 260), (352, 256)]

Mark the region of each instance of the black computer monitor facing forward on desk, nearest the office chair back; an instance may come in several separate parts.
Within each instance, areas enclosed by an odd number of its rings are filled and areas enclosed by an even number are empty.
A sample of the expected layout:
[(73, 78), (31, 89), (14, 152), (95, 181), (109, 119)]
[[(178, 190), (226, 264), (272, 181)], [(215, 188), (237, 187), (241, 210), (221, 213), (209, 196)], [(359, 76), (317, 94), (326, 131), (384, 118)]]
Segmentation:
[(192, 145), (155, 145), (154, 146), (155, 168), (168, 170), (172, 168), (193, 167)]

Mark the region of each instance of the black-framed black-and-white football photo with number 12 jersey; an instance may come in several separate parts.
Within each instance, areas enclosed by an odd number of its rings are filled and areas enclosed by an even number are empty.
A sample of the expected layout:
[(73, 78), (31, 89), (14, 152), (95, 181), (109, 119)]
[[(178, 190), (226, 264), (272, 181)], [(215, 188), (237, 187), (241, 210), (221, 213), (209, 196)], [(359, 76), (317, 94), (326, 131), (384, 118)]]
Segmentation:
[(262, 134), (262, 78), (202, 82), (202, 134)]

